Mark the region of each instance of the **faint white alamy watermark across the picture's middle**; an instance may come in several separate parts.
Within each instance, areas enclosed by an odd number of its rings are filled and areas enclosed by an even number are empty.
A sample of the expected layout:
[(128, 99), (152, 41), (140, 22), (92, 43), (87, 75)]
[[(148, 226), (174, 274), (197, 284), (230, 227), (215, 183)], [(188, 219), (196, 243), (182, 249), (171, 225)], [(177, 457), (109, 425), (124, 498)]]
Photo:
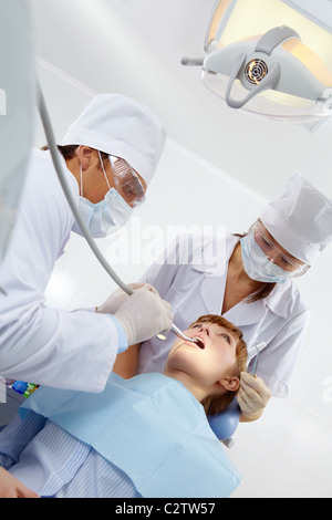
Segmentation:
[(225, 269), (225, 226), (142, 225), (133, 217), (131, 225), (108, 238), (106, 252), (111, 266), (193, 264)]

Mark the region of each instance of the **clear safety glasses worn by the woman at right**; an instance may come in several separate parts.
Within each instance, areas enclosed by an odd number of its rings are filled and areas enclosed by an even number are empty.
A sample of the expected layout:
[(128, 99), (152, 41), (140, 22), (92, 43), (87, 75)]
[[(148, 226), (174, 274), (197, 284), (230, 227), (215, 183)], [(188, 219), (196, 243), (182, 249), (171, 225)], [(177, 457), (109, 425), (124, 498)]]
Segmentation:
[(269, 237), (260, 220), (250, 228), (250, 231), (253, 233), (256, 243), (264, 253), (267, 259), (286, 271), (288, 273), (288, 278), (302, 277), (302, 274), (310, 269), (308, 263), (302, 263), (281, 251), (272, 237)]

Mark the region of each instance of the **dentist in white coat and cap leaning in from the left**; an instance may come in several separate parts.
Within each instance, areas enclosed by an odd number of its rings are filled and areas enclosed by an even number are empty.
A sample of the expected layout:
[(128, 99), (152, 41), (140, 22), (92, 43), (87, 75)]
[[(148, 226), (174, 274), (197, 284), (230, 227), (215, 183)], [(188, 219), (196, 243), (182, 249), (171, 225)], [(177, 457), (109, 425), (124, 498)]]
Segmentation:
[[(97, 95), (71, 125), (60, 147), (62, 165), (93, 237), (124, 226), (144, 201), (165, 137), (162, 123), (145, 106), (122, 95)], [(72, 230), (80, 232), (50, 153), (34, 150), (0, 267), (7, 293), (0, 298), (0, 375), (101, 392), (116, 354), (139, 336), (169, 330), (173, 313), (155, 291), (141, 285), (121, 301), (115, 318), (107, 305), (104, 314), (48, 308), (44, 291)]]

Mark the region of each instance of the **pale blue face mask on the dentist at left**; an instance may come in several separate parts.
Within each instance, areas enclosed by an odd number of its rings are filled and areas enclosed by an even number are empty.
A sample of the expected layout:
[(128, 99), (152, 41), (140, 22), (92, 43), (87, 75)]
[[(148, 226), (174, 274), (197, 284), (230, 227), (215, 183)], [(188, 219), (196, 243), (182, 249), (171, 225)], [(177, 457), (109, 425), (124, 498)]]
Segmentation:
[[(101, 164), (110, 190), (106, 193), (104, 200), (97, 204), (93, 204), (82, 196), (83, 183), (81, 167), (81, 197), (79, 200), (79, 210), (87, 229), (94, 238), (104, 238), (107, 235), (114, 233), (125, 226), (133, 215), (133, 208), (127, 205), (115, 188), (111, 188), (102, 159)], [(73, 231), (82, 235), (82, 231), (76, 223), (73, 226)]]

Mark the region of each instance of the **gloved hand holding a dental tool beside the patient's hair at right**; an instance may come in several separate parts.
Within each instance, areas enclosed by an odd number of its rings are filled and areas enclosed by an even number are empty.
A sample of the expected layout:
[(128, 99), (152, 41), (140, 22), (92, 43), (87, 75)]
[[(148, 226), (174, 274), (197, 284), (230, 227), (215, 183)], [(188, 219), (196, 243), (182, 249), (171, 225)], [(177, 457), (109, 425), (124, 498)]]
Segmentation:
[(242, 372), (240, 389), (237, 396), (242, 413), (242, 420), (250, 423), (259, 419), (271, 395), (271, 391), (260, 377), (253, 377), (251, 374)]

